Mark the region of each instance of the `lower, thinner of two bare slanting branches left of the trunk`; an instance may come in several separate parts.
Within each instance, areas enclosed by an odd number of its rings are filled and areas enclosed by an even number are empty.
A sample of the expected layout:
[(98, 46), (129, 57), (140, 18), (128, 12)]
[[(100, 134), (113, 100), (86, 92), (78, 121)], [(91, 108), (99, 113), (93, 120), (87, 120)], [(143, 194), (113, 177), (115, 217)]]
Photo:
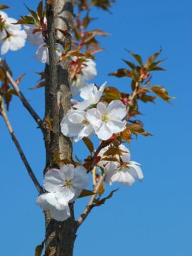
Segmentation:
[(38, 180), (37, 180), (35, 174), (33, 173), (32, 169), (31, 169), (31, 166), (28, 164), (28, 161), (26, 159), (25, 154), (23, 153), (23, 150), (21, 149), (21, 146), (18, 142), (18, 139), (16, 138), (16, 135), (14, 134), (14, 130), (12, 129), (11, 124), (9, 122), (9, 117), (6, 114), (4, 103), (1, 100), (1, 97), (0, 97), (0, 110), (1, 110), (0, 114), (4, 118), (4, 121), (6, 123), (6, 127), (9, 130), (9, 133), (11, 135), (11, 139), (13, 140), (14, 144), (16, 145), (16, 148), (18, 150), (18, 154), (20, 154), (21, 159), (23, 161), (23, 164), (26, 166), (26, 169), (28, 171), (28, 175), (31, 177), (31, 180), (33, 181), (34, 185), (36, 186), (36, 189), (38, 190), (38, 193), (43, 193), (43, 188), (38, 183)]

